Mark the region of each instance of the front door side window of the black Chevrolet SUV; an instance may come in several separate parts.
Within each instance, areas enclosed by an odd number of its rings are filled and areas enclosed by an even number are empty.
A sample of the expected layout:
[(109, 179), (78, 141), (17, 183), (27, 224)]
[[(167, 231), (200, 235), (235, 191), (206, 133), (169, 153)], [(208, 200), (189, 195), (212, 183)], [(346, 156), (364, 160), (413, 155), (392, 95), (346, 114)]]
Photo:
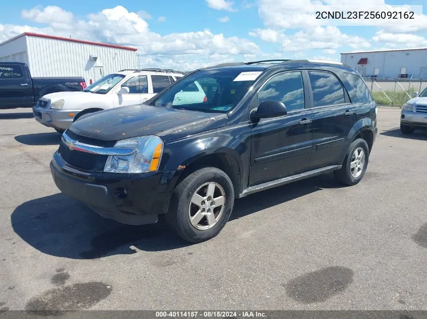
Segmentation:
[(286, 72), (272, 77), (258, 93), (262, 101), (280, 101), (288, 112), (304, 108), (304, 85), (301, 72)]

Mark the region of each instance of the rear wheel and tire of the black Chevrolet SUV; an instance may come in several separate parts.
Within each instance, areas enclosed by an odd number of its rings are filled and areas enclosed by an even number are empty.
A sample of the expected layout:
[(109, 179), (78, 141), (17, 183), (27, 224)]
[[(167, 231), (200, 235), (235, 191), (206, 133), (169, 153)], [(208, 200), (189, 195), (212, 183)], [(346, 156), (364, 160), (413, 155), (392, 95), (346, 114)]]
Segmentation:
[[(362, 150), (364, 154), (364, 157), (361, 158), (359, 162), (357, 160), (355, 161), (356, 150), (358, 150), (359, 156), (362, 154), (360, 150)], [(363, 165), (361, 166), (362, 161)], [(368, 166), (368, 161), (369, 147), (366, 141), (363, 139), (353, 141), (347, 150), (341, 169), (334, 171), (335, 178), (345, 185), (356, 185), (362, 180)], [(356, 164), (356, 167), (354, 164)]]

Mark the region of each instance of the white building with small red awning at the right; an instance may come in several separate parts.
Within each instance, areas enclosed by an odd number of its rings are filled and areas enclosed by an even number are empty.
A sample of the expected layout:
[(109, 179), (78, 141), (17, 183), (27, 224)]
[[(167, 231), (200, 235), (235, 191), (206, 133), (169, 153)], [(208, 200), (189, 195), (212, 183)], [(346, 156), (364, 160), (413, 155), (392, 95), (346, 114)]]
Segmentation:
[(427, 79), (427, 48), (345, 52), (341, 62), (364, 77)]

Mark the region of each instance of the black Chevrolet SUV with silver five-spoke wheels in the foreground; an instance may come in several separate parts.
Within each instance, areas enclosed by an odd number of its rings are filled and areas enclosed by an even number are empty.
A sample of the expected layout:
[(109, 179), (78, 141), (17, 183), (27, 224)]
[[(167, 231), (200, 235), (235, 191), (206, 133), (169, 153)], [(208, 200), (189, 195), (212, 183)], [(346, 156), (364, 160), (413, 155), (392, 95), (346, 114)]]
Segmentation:
[(376, 132), (376, 105), (347, 66), (228, 63), (144, 104), (81, 117), (51, 171), (62, 192), (104, 217), (140, 225), (165, 214), (199, 242), (224, 227), (234, 199), (327, 172), (357, 184)]

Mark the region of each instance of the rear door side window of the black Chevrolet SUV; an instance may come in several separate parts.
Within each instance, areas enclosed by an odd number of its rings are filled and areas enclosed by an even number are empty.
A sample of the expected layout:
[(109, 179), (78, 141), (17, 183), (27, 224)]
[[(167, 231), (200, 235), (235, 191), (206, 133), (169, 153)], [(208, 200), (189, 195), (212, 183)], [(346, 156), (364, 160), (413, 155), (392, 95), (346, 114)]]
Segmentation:
[(313, 106), (345, 103), (344, 88), (337, 77), (327, 72), (308, 72), (313, 92)]

